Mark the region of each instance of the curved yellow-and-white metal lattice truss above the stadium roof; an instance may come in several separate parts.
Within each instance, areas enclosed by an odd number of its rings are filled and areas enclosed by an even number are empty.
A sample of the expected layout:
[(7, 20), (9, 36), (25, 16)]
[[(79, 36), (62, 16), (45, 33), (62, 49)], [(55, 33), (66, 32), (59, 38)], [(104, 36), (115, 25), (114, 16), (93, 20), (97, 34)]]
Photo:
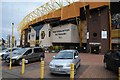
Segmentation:
[(50, 0), (50, 2), (38, 7), (31, 13), (29, 13), (18, 25), (18, 30), (24, 29), (25, 26), (29, 25), (30, 22), (39, 19), (40, 17), (52, 13), (64, 6), (70, 5), (73, 2), (81, 0)]

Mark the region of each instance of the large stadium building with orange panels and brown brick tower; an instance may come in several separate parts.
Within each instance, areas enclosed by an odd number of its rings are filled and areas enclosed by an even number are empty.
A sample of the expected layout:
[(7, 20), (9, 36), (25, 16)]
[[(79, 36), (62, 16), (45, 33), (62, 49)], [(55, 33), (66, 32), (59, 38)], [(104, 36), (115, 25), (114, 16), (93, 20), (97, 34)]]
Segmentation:
[(18, 28), (21, 46), (77, 49), (96, 54), (120, 49), (120, 10), (114, 8), (120, 2), (68, 3), (33, 20), (28, 17), (48, 3), (27, 15)]

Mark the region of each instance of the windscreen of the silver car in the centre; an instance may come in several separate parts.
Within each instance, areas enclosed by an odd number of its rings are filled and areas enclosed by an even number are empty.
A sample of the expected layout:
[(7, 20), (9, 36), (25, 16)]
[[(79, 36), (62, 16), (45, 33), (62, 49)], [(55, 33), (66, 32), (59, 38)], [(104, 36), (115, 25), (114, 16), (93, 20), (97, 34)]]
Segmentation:
[(73, 59), (73, 52), (61, 51), (55, 56), (55, 59)]

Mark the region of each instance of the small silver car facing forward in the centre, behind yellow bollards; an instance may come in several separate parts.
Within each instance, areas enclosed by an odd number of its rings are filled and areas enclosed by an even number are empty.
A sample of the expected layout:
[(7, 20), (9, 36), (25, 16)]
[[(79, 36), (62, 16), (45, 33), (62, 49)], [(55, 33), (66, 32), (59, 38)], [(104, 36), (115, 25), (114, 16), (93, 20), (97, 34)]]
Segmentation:
[(80, 66), (77, 50), (61, 50), (49, 64), (50, 72), (56, 74), (70, 74), (70, 64), (74, 63), (75, 73)]

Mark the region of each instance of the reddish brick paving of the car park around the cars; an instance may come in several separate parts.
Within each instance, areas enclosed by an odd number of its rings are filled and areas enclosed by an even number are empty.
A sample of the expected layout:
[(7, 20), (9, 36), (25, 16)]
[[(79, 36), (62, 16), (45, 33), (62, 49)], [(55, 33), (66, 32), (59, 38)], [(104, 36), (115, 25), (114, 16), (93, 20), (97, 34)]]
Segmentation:
[[(52, 75), (49, 72), (49, 62), (52, 60), (52, 56), (56, 53), (46, 53), (45, 56), (45, 78), (46, 79), (69, 79), (69, 75)], [(80, 53), (81, 57), (81, 66), (77, 70), (75, 75), (76, 79), (107, 79), (107, 80), (117, 80), (117, 75), (112, 71), (106, 70), (103, 65), (103, 55), (96, 54), (87, 54)], [(40, 62), (34, 62), (26, 65), (25, 74), (21, 75), (21, 66), (13, 66), (12, 70), (9, 70), (9, 67), (6, 63), (2, 62), (2, 77), (3, 80), (16, 78), (40, 78)]]

